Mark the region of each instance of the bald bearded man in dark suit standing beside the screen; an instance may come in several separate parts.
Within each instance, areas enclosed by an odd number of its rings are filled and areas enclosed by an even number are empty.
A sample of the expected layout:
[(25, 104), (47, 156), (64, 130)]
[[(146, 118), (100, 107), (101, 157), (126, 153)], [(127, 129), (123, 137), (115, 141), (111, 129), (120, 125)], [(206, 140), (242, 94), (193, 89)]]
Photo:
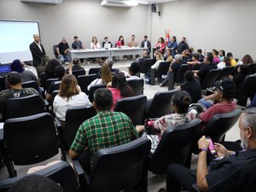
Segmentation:
[(41, 57), (45, 55), (43, 44), (40, 43), (40, 36), (38, 34), (33, 35), (34, 42), (29, 45), (29, 49), (33, 57), (33, 66), (38, 67), (41, 63)]

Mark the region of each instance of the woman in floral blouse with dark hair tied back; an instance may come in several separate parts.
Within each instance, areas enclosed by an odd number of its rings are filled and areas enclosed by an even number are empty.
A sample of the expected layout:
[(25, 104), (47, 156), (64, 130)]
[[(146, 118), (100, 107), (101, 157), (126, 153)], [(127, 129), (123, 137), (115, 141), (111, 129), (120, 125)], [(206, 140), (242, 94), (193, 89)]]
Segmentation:
[[(160, 143), (162, 134), (168, 127), (183, 125), (196, 117), (195, 109), (188, 112), (191, 99), (186, 91), (178, 90), (172, 96), (171, 108), (174, 110), (172, 114), (166, 114), (154, 121), (149, 121), (149, 126), (152, 126), (154, 130), (159, 133), (156, 135), (148, 135), (143, 133), (144, 137), (148, 137), (151, 141), (151, 153), (154, 153), (155, 148)], [(175, 129), (175, 128), (174, 128)]]

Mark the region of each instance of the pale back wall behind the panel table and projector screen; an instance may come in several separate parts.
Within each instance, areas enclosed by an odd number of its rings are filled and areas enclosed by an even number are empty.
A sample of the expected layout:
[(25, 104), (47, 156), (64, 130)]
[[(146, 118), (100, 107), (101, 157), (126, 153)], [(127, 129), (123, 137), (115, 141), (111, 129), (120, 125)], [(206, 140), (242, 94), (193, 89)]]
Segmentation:
[(131, 35), (135, 34), (140, 43), (143, 36), (150, 32), (148, 15), (151, 13), (148, 10), (148, 6), (132, 9), (102, 7), (100, 1), (95, 0), (63, 0), (57, 5), (0, 1), (0, 19), (39, 20), (42, 44), (51, 56), (54, 44), (66, 37), (71, 46), (74, 35), (85, 47), (90, 46), (93, 36), (100, 42), (108, 36), (114, 44), (119, 35), (123, 35), (125, 44), (128, 44)]

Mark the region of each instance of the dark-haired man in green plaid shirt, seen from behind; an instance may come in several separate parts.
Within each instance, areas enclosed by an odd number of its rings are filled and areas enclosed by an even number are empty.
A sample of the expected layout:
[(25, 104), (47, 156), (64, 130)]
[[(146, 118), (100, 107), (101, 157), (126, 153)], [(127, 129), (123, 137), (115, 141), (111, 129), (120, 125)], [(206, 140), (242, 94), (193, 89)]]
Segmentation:
[(90, 151), (91, 158), (87, 153), (89, 158), (85, 162), (85, 165), (89, 165), (88, 168), (97, 150), (129, 143), (138, 137), (131, 119), (125, 113), (111, 110), (113, 96), (110, 90), (105, 88), (96, 90), (93, 107), (96, 108), (96, 116), (85, 120), (79, 126), (69, 150), (69, 156), (72, 159)]

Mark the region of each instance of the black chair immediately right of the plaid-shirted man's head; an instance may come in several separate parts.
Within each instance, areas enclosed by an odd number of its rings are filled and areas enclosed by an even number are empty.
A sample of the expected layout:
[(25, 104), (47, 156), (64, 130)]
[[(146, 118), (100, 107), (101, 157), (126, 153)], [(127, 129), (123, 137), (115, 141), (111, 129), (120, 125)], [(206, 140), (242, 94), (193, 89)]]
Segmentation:
[(147, 96), (131, 96), (119, 99), (113, 111), (125, 113), (133, 125), (143, 125), (143, 115), (147, 104)]

